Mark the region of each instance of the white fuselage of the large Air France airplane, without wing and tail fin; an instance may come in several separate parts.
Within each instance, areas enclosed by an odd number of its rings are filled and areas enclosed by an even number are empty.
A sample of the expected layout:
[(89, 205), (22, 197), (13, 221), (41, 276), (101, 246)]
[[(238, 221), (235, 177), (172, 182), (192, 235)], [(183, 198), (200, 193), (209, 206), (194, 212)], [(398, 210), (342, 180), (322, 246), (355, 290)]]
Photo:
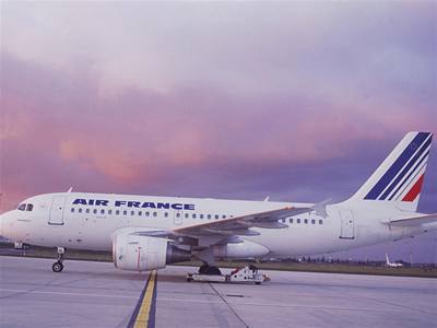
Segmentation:
[[(86, 204), (74, 204), (78, 199)], [(116, 202), (118, 206), (115, 206)], [(110, 250), (111, 235), (120, 229), (172, 230), (283, 207), (311, 206), (82, 192), (46, 194), (26, 199), (23, 203), (32, 203), (32, 211), (13, 210), (2, 214), (3, 236), (32, 245), (93, 250)], [(162, 208), (153, 208), (160, 203)], [(315, 212), (299, 214), (282, 220), (287, 224), (285, 229), (252, 229), (260, 234), (241, 236), (241, 239), (267, 247), (269, 254), (260, 257), (281, 258), (383, 243), (435, 227), (435, 224), (390, 227), (387, 224), (390, 219), (405, 214), (411, 216), (412, 213), (377, 202), (343, 202), (327, 206), (324, 218)]]

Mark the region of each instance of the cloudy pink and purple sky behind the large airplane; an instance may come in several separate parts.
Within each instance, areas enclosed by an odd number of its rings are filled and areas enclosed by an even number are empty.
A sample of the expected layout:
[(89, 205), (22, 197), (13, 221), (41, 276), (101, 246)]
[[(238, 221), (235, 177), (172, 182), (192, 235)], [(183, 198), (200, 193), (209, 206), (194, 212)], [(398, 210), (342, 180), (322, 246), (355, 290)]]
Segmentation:
[[(408, 131), (436, 132), (436, 1), (0, 5), (2, 211), (70, 186), (343, 200)], [(434, 152), (423, 212), (436, 181)]]

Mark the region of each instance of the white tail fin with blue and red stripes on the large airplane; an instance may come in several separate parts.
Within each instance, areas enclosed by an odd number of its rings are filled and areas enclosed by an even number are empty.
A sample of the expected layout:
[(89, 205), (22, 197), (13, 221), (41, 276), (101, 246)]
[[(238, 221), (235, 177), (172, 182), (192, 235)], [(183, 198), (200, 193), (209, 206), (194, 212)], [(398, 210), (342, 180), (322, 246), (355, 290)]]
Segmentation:
[(416, 211), (429, 149), (430, 132), (409, 132), (350, 200), (385, 201)]

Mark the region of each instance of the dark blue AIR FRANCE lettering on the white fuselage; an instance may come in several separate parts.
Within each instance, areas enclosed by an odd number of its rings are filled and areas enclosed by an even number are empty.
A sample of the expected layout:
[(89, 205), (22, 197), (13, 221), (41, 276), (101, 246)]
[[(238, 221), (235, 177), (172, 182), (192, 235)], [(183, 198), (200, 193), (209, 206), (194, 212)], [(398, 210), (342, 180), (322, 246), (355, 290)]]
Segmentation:
[[(84, 199), (76, 198), (73, 204), (83, 206), (103, 206), (107, 207), (109, 200), (106, 199)], [(127, 208), (141, 208), (141, 209), (174, 209), (174, 210), (194, 210), (193, 203), (180, 203), (180, 202), (154, 202), (154, 201), (127, 201), (127, 200), (116, 200), (114, 202), (116, 208), (127, 207)]]

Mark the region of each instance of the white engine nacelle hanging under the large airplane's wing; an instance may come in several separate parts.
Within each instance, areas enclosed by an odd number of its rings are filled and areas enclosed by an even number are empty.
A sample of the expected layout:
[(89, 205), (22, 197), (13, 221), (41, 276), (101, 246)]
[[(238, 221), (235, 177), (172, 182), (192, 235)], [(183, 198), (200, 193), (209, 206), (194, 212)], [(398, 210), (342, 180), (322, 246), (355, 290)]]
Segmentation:
[(165, 238), (139, 236), (131, 233), (115, 235), (113, 260), (116, 268), (149, 271), (165, 268), (167, 263), (189, 260), (190, 253), (179, 249)]

